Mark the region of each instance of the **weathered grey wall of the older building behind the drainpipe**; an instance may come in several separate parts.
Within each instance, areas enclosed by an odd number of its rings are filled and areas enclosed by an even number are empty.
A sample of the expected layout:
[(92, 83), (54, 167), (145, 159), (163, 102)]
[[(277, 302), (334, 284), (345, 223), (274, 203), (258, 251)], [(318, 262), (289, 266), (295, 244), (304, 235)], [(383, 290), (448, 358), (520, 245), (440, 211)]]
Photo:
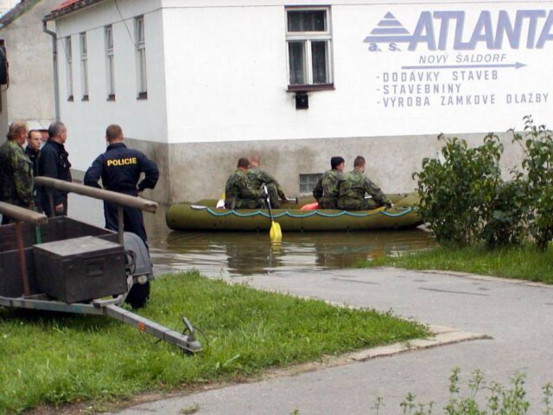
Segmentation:
[(25, 120), (31, 128), (48, 128), (55, 118), (52, 38), (42, 31), (42, 17), (57, 3), (39, 1), (0, 29), (10, 76), (8, 89), (2, 86), (1, 136), (13, 120)]

